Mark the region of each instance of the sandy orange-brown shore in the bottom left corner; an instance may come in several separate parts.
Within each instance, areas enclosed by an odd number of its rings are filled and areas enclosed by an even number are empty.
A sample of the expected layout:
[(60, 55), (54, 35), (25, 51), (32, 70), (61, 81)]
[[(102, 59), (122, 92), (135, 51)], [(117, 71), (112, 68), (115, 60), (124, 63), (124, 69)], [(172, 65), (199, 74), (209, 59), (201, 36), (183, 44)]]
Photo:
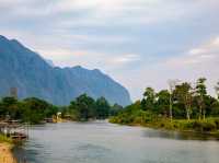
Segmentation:
[(12, 150), (14, 145), (9, 142), (0, 142), (0, 162), (1, 163), (18, 163)]

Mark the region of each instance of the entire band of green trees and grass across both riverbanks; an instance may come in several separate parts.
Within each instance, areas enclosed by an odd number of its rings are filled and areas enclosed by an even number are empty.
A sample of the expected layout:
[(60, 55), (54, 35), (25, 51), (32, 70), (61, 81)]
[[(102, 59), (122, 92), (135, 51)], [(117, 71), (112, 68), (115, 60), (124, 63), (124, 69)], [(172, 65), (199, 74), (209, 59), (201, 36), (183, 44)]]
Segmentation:
[[(198, 79), (195, 86), (177, 81), (169, 84), (170, 90), (158, 93), (147, 88), (142, 100), (125, 108), (117, 104), (110, 105), (104, 97), (94, 100), (87, 94), (80, 95), (68, 106), (55, 106), (36, 97), (22, 101), (3, 97), (0, 101), (0, 118), (39, 124), (61, 112), (64, 119), (76, 121), (110, 117), (110, 121), (115, 124), (219, 135), (219, 98), (207, 94), (206, 79)], [(215, 90), (219, 96), (219, 82)]]

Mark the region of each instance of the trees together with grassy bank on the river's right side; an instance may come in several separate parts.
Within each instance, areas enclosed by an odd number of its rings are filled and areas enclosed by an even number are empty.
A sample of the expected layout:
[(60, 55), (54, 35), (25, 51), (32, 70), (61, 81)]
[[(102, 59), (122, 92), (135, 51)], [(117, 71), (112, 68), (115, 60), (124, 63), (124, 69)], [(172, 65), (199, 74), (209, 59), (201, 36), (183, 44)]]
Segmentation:
[(169, 85), (170, 90), (158, 93), (147, 88), (142, 100), (127, 106), (110, 121), (219, 137), (219, 82), (215, 86), (217, 98), (207, 94), (205, 78), (198, 79), (195, 86), (178, 81), (170, 81)]

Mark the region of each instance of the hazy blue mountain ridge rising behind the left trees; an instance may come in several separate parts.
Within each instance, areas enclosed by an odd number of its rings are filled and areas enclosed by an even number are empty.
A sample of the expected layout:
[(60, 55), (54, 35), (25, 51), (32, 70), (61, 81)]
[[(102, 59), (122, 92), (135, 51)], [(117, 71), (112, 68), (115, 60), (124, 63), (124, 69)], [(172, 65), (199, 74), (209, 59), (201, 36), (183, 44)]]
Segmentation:
[(18, 40), (1, 35), (0, 77), (0, 96), (18, 88), (19, 98), (35, 96), (56, 105), (69, 104), (83, 93), (94, 98), (104, 96), (111, 104), (130, 103), (128, 91), (100, 70), (54, 67)]

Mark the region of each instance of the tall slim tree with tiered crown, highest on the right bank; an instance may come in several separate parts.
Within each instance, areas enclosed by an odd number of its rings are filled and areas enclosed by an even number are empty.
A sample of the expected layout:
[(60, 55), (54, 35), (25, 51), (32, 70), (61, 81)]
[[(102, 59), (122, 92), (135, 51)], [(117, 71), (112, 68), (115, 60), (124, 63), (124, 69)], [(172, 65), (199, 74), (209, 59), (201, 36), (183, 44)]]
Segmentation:
[(206, 82), (205, 78), (199, 78), (196, 83), (196, 95), (198, 97), (198, 105), (199, 105), (199, 120), (201, 119), (201, 115), (204, 119), (206, 115), (204, 98), (207, 95), (207, 90), (205, 82)]

